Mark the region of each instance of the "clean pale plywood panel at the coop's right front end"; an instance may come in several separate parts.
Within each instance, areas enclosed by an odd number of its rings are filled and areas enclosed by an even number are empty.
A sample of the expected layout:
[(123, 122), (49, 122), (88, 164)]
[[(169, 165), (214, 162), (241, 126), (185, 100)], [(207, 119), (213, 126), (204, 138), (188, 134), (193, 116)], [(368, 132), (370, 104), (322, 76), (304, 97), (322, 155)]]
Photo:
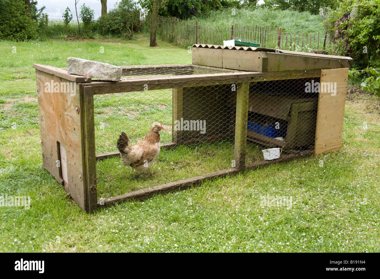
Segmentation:
[[(321, 70), (314, 156), (340, 149), (348, 68)], [(334, 86), (335, 92), (326, 90)]]

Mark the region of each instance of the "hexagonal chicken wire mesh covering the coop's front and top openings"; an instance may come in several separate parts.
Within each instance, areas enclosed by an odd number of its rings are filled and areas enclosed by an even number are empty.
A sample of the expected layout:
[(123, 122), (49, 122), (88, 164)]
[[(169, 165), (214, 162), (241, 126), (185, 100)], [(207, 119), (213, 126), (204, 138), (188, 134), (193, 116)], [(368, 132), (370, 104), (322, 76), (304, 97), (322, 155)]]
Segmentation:
[[(239, 71), (188, 65), (123, 69), (123, 79)], [(317, 78), (251, 82), (245, 163), (313, 148)], [(307, 90), (310, 83), (312, 90)], [(311, 85), (313, 84), (313, 85)], [(94, 95), (98, 197), (196, 177), (236, 166), (235, 124), (239, 84)], [(157, 86), (155, 87), (157, 88)], [(112, 91), (105, 87), (103, 93)], [(239, 151), (241, 147), (237, 147)], [(243, 148), (244, 149), (244, 148)]]

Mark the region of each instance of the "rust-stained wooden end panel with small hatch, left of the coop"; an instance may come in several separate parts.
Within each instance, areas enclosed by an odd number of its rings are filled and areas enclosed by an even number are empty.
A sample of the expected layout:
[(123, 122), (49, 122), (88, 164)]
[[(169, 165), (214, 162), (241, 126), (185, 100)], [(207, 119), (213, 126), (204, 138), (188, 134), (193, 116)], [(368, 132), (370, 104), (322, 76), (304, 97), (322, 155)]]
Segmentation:
[[(36, 80), (43, 166), (64, 185), (78, 205), (87, 211), (86, 185), (83, 180), (82, 119), (81, 113), (76, 110), (77, 106), (81, 109), (80, 86), (72, 82), (71, 86), (75, 89), (73, 93), (60, 92), (61, 85), (66, 86), (69, 83), (70, 86), (70, 80), (40, 70), (36, 70)], [(49, 88), (52, 83), (53, 88)], [(66, 151), (66, 156), (62, 154), (65, 157), (62, 159), (66, 165), (67, 183), (62, 180), (61, 168), (57, 167), (57, 160), (62, 161), (61, 145)]]

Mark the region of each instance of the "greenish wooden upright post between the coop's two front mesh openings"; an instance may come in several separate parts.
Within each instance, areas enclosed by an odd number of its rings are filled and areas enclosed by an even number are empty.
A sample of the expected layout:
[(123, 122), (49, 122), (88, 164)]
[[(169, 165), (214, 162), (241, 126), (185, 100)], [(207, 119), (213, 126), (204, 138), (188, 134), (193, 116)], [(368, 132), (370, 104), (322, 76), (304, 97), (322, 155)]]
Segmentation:
[(237, 84), (234, 160), (237, 169), (245, 167), (249, 82)]

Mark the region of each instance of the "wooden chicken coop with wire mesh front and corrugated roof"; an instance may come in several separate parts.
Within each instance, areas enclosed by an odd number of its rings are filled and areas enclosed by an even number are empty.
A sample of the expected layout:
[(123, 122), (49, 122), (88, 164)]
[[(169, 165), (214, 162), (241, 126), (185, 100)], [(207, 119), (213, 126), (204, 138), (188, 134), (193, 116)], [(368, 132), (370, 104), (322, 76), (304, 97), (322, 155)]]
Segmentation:
[[(119, 81), (35, 64), (43, 166), (87, 212), (341, 146), (350, 57), (193, 45), (192, 64), (121, 66)], [(123, 166), (162, 125), (147, 172)]]

